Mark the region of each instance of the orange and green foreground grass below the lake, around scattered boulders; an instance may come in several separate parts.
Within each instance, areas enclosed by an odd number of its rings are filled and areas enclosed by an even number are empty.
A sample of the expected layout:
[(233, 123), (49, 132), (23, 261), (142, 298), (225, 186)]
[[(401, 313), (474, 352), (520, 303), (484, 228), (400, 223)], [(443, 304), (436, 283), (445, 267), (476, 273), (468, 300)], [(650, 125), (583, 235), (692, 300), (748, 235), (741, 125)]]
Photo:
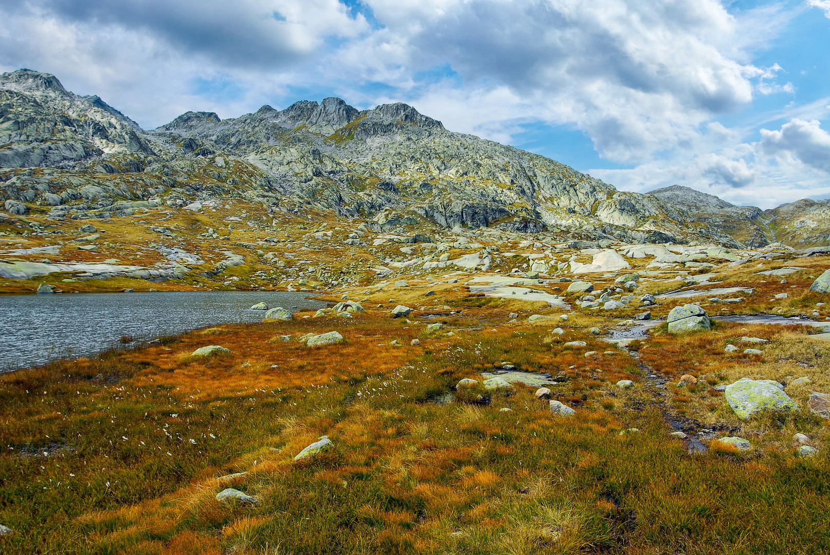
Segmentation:
[[(798, 430), (822, 441), (821, 422), (734, 423), (706, 387), (678, 388), (661, 406), (636, 360), (583, 356), (608, 350), (595, 336), (492, 331), (486, 314), (468, 318), (447, 325), (452, 336), (429, 337), (374, 313), (227, 325), (0, 377), (0, 523), (15, 530), (0, 539), (4, 553), (830, 549), (827, 456), (798, 459), (786, 439)], [(296, 341), (335, 325), (343, 344)], [(759, 361), (726, 358), (725, 338), (711, 334), (651, 338), (639, 360), (669, 379), (704, 366), (727, 380), (768, 372), (776, 349), (808, 348), (791, 330), (764, 331), (774, 341)], [(268, 341), (286, 334), (290, 342)], [(388, 347), (393, 338), (405, 347)], [(588, 345), (563, 346), (576, 339)], [(208, 343), (232, 353), (189, 357)], [(576, 416), (552, 416), (521, 386), (490, 404), (432, 402), (501, 361), (566, 378), (554, 398)], [(619, 379), (637, 385), (619, 390)], [(744, 426), (754, 450), (686, 454), (666, 433), (680, 405), (686, 417)], [(640, 432), (619, 435), (631, 427)], [(322, 435), (334, 450), (293, 461)], [(222, 478), (235, 473), (245, 474)], [(215, 494), (226, 487), (260, 503), (221, 504)]]

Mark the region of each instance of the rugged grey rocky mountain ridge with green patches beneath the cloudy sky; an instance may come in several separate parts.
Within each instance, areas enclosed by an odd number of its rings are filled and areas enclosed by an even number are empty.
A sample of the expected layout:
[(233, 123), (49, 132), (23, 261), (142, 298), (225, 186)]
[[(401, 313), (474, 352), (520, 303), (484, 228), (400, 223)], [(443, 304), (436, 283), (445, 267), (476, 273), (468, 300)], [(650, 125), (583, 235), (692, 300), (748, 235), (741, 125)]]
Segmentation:
[(333, 97), (233, 119), (187, 112), (144, 130), (98, 96), (30, 70), (0, 75), (0, 168), (3, 201), (45, 203), (64, 217), (117, 217), (107, 207), (119, 202), (243, 198), (271, 211), (398, 213), (384, 228), (491, 227), (570, 240), (759, 246), (783, 229), (774, 213), (686, 187), (620, 192), (549, 158), (449, 131), (401, 103), (357, 110)]

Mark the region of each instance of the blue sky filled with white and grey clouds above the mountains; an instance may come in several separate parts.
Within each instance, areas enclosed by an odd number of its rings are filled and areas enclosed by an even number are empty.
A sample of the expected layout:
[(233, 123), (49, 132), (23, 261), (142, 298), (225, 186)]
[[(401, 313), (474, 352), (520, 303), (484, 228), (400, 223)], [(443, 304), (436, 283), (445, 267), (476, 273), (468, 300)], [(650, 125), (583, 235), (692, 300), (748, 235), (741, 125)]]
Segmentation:
[(830, 197), (830, 0), (0, 0), (0, 71), (154, 129), (406, 102), (624, 191)]

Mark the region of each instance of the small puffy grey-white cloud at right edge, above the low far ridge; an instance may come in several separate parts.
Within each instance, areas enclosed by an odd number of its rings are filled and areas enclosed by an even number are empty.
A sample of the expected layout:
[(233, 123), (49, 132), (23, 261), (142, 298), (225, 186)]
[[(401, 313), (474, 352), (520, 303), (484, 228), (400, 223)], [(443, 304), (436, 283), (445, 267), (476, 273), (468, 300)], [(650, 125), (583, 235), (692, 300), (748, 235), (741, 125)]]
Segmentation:
[(779, 131), (761, 129), (761, 146), (765, 153), (792, 156), (830, 173), (830, 134), (821, 128), (817, 119), (793, 119)]

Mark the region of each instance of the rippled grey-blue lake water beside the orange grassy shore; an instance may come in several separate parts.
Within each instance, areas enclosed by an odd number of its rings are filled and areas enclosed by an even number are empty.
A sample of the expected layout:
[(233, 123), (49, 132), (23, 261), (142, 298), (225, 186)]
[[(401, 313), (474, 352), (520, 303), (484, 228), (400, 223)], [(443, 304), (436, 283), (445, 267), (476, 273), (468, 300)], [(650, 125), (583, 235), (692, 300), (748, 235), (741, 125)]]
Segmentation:
[(326, 303), (284, 291), (0, 295), (0, 371), (56, 358), (85, 357), (125, 335), (149, 339), (220, 324), (261, 322), (270, 307), (320, 309)]

